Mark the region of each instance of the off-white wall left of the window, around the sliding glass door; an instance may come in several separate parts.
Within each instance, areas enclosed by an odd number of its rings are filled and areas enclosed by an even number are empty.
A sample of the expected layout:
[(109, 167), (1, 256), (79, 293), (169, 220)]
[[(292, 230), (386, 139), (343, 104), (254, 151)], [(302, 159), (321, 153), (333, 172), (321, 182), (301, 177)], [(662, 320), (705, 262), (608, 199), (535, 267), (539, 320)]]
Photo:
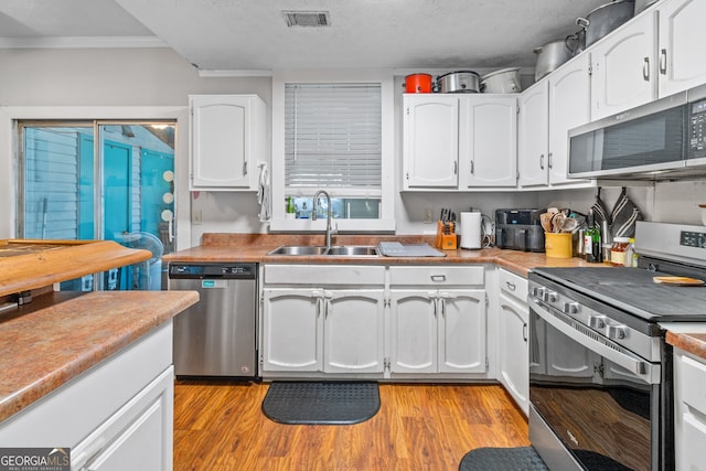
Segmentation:
[[(179, 107), (189, 105), (193, 94), (257, 94), (270, 104), (269, 77), (201, 78), (197, 71), (169, 49), (136, 50), (0, 50), (0, 117), (2, 107)], [(96, 116), (101, 118), (101, 116)], [(135, 118), (140, 118), (136, 116)], [(178, 140), (188, 129), (178, 130)], [(15, 235), (14, 193), (17, 172), (12, 130), (0, 129), (0, 238)], [(188, 188), (186, 156), (176, 156), (176, 192), (184, 196)], [(269, 158), (269, 156), (267, 157)], [(191, 197), (176, 206), (190, 215)], [(197, 203), (195, 203), (197, 202)], [(193, 231), (180, 225), (180, 234), (197, 245), (203, 232), (259, 232), (255, 193), (204, 194), (194, 199), (202, 212), (202, 225)], [(179, 195), (178, 195), (179, 203)], [(189, 217), (186, 217), (186, 221)], [(178, 234), (179, 235), (179, 234)], [(181, 245), (180, 245), (181, 247)]]

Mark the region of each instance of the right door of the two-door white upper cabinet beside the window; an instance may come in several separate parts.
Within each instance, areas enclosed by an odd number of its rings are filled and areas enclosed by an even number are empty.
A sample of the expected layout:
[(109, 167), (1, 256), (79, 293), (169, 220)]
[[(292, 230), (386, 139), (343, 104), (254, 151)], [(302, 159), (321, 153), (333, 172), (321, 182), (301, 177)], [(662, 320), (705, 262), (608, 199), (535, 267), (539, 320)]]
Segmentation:
[(461, 99), (461, 189), (517, 184), (517, 98), (473, 94)]

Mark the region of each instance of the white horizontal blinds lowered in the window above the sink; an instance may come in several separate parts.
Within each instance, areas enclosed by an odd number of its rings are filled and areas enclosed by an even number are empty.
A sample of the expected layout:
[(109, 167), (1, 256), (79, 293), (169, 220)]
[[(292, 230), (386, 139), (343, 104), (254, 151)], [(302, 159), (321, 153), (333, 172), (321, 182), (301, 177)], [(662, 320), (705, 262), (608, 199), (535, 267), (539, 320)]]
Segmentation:
[(286, 84), (285, 185), (381, 188), (379, 84)]

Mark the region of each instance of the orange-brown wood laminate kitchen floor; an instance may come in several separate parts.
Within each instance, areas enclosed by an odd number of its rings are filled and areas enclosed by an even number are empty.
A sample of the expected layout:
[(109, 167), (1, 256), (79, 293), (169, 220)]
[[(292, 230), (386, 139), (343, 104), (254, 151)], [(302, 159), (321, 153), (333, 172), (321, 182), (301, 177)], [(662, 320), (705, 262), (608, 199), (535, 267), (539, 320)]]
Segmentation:
[(291, 426), (260, 410), (268, 384), (176, 382), (174, 470), (458, 470), (469, 450), (530, 445), (498, 385), (381, 384), (352, 426)]

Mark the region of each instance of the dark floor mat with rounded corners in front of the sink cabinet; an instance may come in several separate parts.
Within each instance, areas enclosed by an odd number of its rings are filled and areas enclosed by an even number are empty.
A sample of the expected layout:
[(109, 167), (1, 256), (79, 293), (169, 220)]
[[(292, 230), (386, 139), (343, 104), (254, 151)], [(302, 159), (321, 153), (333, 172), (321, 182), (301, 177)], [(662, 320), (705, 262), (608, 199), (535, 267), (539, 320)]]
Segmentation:
[(274, 382), (263, 413), (280, 424), (351, 425), (379, 410), (377, 383)]

